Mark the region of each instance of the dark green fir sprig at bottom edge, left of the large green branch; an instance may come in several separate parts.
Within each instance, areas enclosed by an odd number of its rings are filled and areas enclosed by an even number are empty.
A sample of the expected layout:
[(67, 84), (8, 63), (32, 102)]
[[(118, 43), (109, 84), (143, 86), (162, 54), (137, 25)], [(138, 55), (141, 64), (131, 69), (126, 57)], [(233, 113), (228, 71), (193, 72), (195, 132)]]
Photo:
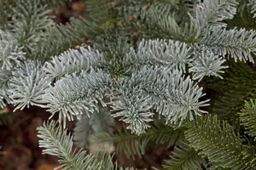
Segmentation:
[(170, 160), (166, 160), (163, 167), (167, 170), (203, 170), (207, 167), (207, 161), (181, 140), (175, 145)]

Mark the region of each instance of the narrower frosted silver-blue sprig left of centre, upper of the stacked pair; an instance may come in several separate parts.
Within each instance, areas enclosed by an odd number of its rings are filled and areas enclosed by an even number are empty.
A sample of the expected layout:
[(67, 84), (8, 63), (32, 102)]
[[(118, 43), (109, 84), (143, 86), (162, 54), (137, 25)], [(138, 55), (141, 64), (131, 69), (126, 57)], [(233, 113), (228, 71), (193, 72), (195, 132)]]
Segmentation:
[(100, 67), (103, 62), (103, 55), (97, 50), (93, 51), (90, 47), (70, 49), (46, 62), (44, 71), (49, 73), (49, 77), (61, 78), (66, 74), (82, 70), (90, 71), (91, 67)]

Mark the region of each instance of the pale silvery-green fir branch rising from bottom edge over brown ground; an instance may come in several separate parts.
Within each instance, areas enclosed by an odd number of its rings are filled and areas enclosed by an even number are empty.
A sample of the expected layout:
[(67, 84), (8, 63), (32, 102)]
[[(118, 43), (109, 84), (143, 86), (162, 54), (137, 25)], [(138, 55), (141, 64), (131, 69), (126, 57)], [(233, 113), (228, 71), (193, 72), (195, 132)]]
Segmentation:
[(58, 156), (60, 167), (66, 170), (103, 170), (102, 161), (97, 161), (93, 155), (87, 155), (84, 150), (73, 150), (73, 138), (67, 129), (62, 129), (56, 122), (44, 122), (38, 127), (39, 147), (43, 153)]

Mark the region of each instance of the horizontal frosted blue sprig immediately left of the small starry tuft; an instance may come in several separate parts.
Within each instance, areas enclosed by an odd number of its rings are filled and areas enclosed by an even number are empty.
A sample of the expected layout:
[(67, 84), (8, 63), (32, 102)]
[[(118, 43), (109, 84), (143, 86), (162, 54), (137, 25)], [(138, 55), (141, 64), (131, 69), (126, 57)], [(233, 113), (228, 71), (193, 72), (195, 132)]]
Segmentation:
[(135, 68), (143, 65), (164, 65), (172, 69), (185, 71), (190, 61), (191, 48), (184, 42), (172, 40), (143, 39), (137, 51), (131, 48), (129, 57)]

